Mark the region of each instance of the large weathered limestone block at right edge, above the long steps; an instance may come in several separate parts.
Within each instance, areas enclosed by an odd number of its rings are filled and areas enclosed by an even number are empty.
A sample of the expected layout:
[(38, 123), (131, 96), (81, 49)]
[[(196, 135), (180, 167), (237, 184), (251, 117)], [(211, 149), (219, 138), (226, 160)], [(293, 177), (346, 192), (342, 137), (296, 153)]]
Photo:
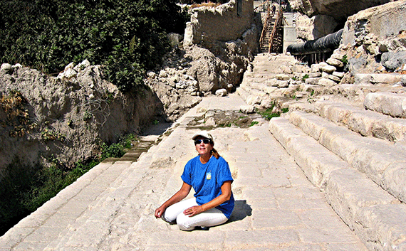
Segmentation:
[(406, 95), (372, 92), (366, 95), (364, 107), (392, 117), (406, 117)]

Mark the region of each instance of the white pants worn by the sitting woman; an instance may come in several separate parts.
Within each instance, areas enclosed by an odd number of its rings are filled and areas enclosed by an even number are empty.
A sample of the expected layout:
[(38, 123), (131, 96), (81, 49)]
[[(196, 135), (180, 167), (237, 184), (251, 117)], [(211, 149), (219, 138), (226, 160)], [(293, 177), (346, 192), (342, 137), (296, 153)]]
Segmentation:
[(185, 201), (179, 201), (169, 206), (162, 215), (162, 220), (168, 223), (173, 223), (176, 220), (180, 230), (194, 230), (196, 227), (212, 227), (214, 225), (220, 225), (225, 223), (228, 219), (221, 210), (212, 208), (198, 215), (189, 217), (184, 215), (183, 211), (187, 208), (191, 208), (196, 203), (195, 198), (190, 198)]

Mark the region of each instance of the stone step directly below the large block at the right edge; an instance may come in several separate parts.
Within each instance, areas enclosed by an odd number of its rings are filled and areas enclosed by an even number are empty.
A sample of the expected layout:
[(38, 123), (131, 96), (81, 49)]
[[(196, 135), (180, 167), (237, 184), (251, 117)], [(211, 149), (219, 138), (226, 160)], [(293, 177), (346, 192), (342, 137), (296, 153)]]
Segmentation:
[(406, 141), (406, 119), (393, 118), (385, 114), (365, 110), (344, 103), (317, 101), (313, 104), (296, 103), (289, 110), (314, 112), (336, 124), (343, 124), (353, 132), (404, 145)]

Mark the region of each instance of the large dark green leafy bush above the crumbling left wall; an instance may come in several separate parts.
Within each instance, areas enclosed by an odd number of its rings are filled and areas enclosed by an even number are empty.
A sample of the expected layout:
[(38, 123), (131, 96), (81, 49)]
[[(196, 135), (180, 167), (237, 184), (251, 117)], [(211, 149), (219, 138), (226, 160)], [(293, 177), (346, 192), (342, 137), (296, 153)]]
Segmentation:
[(88, 59), (105, 65), (121, 90), (142, 84), (145, 70), (183, 33), (187, 15), (175, 0), (0, 0), (1, 62), (59, 73)]

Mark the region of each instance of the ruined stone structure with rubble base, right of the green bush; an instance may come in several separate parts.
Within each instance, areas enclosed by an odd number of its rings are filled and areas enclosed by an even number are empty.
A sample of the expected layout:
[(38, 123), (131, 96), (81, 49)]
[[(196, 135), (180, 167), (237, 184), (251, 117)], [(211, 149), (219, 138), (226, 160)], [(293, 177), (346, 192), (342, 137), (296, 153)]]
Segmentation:
[(167, 119), (179, 118), (202, 96), (236, 90), (258, 51), (261, 24), (253, 6), (252, 0), (231, 0), (190, 10), (184, 40), (146, 80)]

